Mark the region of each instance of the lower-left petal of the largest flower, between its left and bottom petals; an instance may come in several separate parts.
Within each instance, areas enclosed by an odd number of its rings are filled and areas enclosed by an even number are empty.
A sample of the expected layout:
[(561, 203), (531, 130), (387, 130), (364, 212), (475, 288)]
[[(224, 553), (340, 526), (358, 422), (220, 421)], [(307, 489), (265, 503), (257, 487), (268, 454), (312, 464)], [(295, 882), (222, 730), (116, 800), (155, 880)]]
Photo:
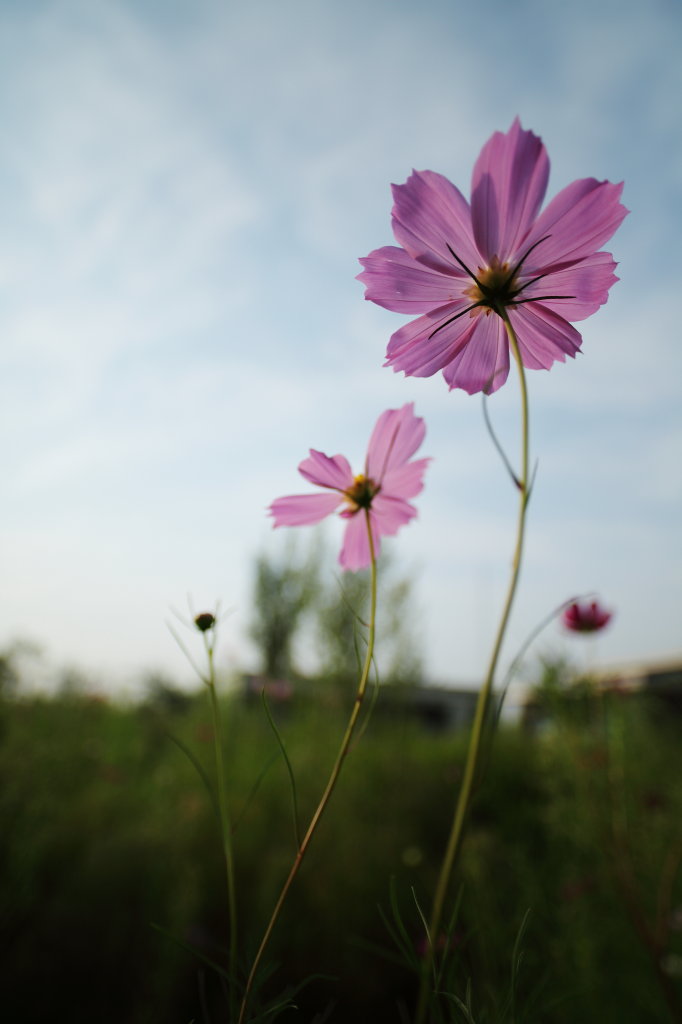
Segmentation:
[[(463, 300), (406, 324), (391, 336), (384, 366), (401, 370), (409, 377), (430, 377), (442, 370), (466, 345), (474, 330), (474, 321), (466, 312), (453, 319), (466, 308), (467, 302)], [(444, 324), (447, 326), (442, 327)]]

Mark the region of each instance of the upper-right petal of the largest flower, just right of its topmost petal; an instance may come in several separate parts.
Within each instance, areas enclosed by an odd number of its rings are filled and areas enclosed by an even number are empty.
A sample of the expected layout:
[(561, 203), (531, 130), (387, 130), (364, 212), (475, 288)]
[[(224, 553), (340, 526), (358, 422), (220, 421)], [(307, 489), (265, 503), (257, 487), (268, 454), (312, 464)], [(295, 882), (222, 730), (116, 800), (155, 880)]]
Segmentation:
[(524, 270), (529, 272), (531, 266), (549, 269), (554, 263), (573, 262), (596, 253), (629, 212), (619, 202), (622, 191), (623, 182), (613, 185), (595, 178), (582, 178), (563, 188), (523, 240), (522, 248), (527, 252), (549, 236), (524, 263)]

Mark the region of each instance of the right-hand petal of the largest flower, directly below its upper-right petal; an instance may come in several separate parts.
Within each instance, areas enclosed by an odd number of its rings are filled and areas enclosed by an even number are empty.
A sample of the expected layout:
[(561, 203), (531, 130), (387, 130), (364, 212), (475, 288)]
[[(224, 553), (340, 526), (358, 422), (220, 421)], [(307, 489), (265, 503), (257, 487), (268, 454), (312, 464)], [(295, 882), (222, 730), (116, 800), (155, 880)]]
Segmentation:
[(606, 302), (609, 288), (619, 280), (613, 273), (615, 265), (610, 253), (595, 253), (536, 281), (523, 289), (519, 298), (565, 295), (565, 299), (545, 299), (543, 305), (564, 319), (585, 319)]

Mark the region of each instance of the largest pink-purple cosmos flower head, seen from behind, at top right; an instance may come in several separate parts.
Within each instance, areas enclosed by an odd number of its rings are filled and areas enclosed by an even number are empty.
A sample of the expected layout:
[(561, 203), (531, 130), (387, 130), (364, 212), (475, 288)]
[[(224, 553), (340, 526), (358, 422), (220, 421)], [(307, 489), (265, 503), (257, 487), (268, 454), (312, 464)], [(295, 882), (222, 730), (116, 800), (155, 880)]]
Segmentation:
[(623, 184), (582, 178), (540, 213), (549, 177), (542, 140), (518, 118), (496, 132), (474, 166), (471, 205), (441, 174), (414, 171), (392, 185), (393, 233), (360, 260), (367, 299), (420, 313), (392, 336), (386, 366), (410, 377), (442, 370), (451, 388), (497, 391), (509, 373), (509, 316), (523, 366), (574, 356), (582, 321), (617, 281), (599, 252), (628, 211)]

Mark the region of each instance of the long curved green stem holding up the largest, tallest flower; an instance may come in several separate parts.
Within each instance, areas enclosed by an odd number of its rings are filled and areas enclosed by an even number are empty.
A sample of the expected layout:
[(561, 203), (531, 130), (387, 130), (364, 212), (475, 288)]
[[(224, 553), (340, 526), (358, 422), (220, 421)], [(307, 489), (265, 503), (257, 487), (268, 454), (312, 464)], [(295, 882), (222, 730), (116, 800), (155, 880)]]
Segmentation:
[(447, 847), (445, 849), (445, 854), (442, 860), (442, 864), (440, 866), (440, 874), (438, 877), (438, 883), (436, 886), (435, 895), (433, 897), (431, 919), (429, 922), (429, 931), (427, 935), (428, 947), (422, 966), (419, 1000), (417, 1004), (417, 1015), (415, 1018), (416, 1024), (425, 1024), (426, 1021), (426, 1014), (428, 1011), (429, 995), (430, 995), (429, 979), (434, 963), (434, 952), (438, 941), (438, 932), (440, 929), (440, 922), (442, 919), (443, 904), (445, 901), (445, 895), (447, 892), (450, 879), (453, 872), (453, 867), (455, 865), (455, 861), (457, 859), (457, 856), (459, 854), (462, 845), (464, 823), (466, 820), (467, 811), (469, 809), (469, 804), (471, 802), (471, 792), (473, 788), (474, 778), (476, 776), (476, 770), (478, 767), (479, 754), (481, 750), (481, 739), (483, 735), (483, 727), (485, 724), (485, 719), (491, 703), (491, 696), (493, 693), (493, 683), (495, 681), (495, 673), (498, 667), (498, 660), (500, 657), (502, 644), (505, 638), (505, 633), (507, 632), (507, 624), (509, 622), (509, 615), (511, 613), (512, 604), (514, 603), (514, 595), (516, 593), (516, 587), (518, 584), (518, 578), (521, 568), (521, 557), (523, 553), (525, 513), (529, 498), (528, 393), (525, 385), (525, 373), (523, 370), (523, 362), (521, 361), (521, 354), (519, 352), (518, 341), (516, 339), (514, 328), (512, 327), (509, 316), (504, 309), (499, 311), (499, 314), (505, 324), (507, 336), (509, 338), (509, 345), (518, 369), (519, 382), (521, 386), (521, 472), (517, 478), (517, 485), (519, 490), (519, 506), (518, 506), (517, 525), (516, 525), (516, 544), (514, 548), (514, 558), (512, 562), (512, 571), (511, 571), (511, 578), (509, 580), (509, 587), (507, 590), (507, 597), (504, 603), (502, 617), (500, 620), (500, 625), (498, 627), (495, 643), (493, 645), (493, 651), (491, 654), (491, 662), (488, 665), (487, 674), (485, 676), (485, 680), (478, 694), (478, 701), (476, 703), (476, 713), (474, 716), (473, 725), (471, 727), (471, 735), (469, 737), (469, 750), (467, 752), (467, 760), (464, 768), (464, 776), (462, 779), (462, 785), (460, 787), (460, 793), (455, 808), (455, 816), (453, 819), (453, 825), (450, 833), (450, 839), (447, 840)]

